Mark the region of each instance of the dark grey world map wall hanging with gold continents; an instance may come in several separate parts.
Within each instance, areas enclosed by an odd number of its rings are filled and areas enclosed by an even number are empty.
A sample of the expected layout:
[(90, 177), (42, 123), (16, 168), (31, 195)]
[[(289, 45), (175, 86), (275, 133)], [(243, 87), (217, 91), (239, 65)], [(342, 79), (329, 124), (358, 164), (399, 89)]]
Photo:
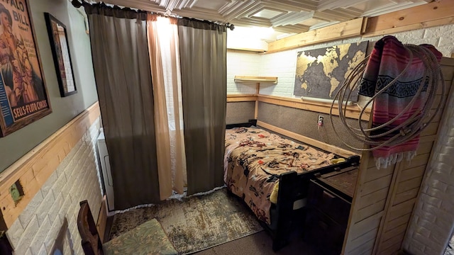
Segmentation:
[[(366, 57), (367, 41), (304, 50), (297, 55), (295, 96), (333, 99), (348, 74)], [(351, 101), (358, 101), (358, 89)]]

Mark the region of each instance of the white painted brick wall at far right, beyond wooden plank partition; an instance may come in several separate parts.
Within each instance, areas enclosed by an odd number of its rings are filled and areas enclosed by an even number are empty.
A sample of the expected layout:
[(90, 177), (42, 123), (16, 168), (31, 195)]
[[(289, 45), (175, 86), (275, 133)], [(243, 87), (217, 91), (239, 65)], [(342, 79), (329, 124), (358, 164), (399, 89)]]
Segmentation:
[(434, 154), (403, 247), (410, 254), (443, 254), (454, 229), (454, 95), (445, 108)]

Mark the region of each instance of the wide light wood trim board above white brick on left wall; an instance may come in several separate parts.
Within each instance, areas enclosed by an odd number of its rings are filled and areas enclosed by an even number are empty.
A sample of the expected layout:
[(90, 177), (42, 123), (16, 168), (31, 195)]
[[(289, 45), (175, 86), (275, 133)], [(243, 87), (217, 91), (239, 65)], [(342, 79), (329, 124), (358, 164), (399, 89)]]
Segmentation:
[[(5, 228), (0, 230), (7, 230), (13, 225), (100, 114), (99, 103), (96, 102), (0, 173), (0, 227)], [(17, 204), (9, 193), (9, 188), (16, 181), (21, 183), (24, 193)]]

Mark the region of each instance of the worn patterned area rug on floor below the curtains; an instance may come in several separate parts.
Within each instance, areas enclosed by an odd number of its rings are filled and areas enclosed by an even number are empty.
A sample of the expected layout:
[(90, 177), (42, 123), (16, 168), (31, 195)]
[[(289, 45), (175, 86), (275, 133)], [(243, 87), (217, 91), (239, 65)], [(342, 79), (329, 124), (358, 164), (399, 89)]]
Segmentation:
[(222, 188), (204, 196), (170, 199), (159, 205), (117, 213), (110, 238), (153, 218), (161, 223), (179, 254), (201, 251), (263, 229), (253, 212)]

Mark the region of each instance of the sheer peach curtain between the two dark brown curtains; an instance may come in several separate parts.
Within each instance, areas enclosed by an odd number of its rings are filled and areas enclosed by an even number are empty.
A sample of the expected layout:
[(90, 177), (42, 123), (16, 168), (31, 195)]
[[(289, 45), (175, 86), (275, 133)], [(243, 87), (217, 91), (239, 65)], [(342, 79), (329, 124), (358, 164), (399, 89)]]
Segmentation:
[(182, 194), (187, 185), (181, 77), (176, 18), (148, 15), (148, 47), (153, 74), (157, 171), (160, 198)]

